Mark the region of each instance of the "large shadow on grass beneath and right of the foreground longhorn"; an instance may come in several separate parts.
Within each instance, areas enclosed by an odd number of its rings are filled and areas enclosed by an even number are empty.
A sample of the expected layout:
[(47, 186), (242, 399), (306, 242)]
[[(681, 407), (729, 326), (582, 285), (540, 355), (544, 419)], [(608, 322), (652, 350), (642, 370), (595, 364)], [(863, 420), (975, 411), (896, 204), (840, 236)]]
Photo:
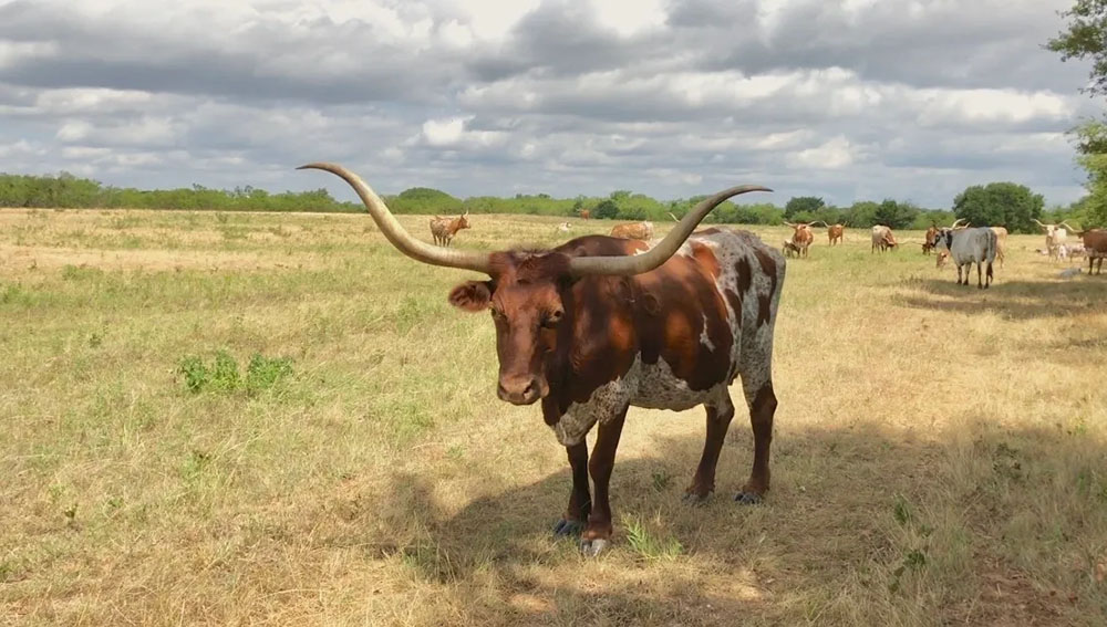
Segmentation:
[[(803, 616), (850, 624), (876, 620), (889, 605), (908, 623), (921, 612), (940, 621), (1085, 624), (1079, 617), (1107, 609), (1107, 591), (1062, 565), (1062, 555), (1080, 546), (1107, 547), (1105, 521), (1086, 519), (1107, 508), (1107, 473), (1098, 466), (1107, 449), (1079, 427), (982, 425), (971, 438), (951, 433), (960, 443), (878, 424), (785, 431), (775, 442), (773, 491), (756, 506), (730, 499), (752, 457), (744, 427), (736, 421), (718, 491), (705, 506), (681, 502), (701, 438), (663, 437), (653, 450), (664, 457), (617, 460), (615, 536), (600, 564), (581, 557), (575, 540), (550, 534), (568, 498), (567, 470), (452, 514), (427, 480), (397, 474), (391, 505), (379, 513), (391, 519), (386, 526), (410, 530), (414, 521), (417, 531), (376, 546), (402, 555), (428, 584), (490, 586), (496, 606), (473, 612), (494, 624), (779, 624)], [(629, 521), (646, 521), (658, 537), (677, 541), (681, 554), (648, 555), (629, 539)], [(1053, 586), (1068, 589), (1056, 596)], [(1069, 592), (1083, 600), (1065, 600)], [(934, 594), (943, 606), (927, 609)], [(539, 600), (520, 605), (519, 597)]]

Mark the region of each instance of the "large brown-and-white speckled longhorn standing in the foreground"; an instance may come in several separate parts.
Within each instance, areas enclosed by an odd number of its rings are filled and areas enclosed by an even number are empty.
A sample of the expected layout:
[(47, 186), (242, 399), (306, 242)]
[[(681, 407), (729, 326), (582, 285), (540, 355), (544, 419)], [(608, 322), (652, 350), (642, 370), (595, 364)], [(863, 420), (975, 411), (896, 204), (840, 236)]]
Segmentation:
[[(540, 401), (545, 422), (566, 447), (572, 490), (555, 534), (581, 532), (580, 546), (589, 555), (611, 539), (608, 487), (631, 405), (706, 407), (703, 454), (685, 499), (707, 499), (734, 416), (728, 386), (739, 375), (754, 461), (735, 500), (761, 501), (769, 488), (777, 406), (773, 330), (785, 261), (752, 233), (692, 230), (725, 199), (768, 189), (733, 187), (706, 198), (652, 249), (635, 240), (584, 236), (552, 250), (479, 252), (445, 250), (412, 238), (380, 197), (341, 166), (301, 168), (327, 170), (350, 184), (381, 232), (404, 254), (489, 276), (457, 285), (449, 302), (492, 313), (499, 398), (515, 405)], [(589, 458), (584, 438), (597, 425)]]

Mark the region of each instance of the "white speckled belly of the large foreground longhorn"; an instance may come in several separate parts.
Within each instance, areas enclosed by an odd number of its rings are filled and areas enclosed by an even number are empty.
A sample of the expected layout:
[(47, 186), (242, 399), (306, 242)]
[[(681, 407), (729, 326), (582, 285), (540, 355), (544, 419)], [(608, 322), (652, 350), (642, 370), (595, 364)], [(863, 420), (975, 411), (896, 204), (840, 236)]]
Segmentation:
[(554, 425), (554, 432), (559, 442), (572, 446), (583, 441), (597, 422), (611, 420), (627, 405), (683, 411), (696, 405), (724, 404), (727, 394), (725, 375), (720, 384), (694, 390), (673, 374), (664, 359), (658, 359), (656, 364), (643, 364), (638, 357), (625, 376), (596, 388), (587, 403), (570, 405)]

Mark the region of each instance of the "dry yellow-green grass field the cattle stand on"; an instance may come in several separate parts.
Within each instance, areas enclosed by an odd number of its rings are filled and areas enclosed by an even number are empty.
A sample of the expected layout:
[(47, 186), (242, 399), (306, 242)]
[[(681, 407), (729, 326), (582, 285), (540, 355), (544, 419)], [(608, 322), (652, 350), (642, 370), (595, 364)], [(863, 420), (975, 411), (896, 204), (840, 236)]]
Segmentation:
[(741, 405), (702, 508), (703, 410), (632, 408), (588, 560), (469, 273), (364, 215), (0, 210), (0, 624), (1107, 624), (1107, 275), (846, 238), (788, 262), (765, 503)]

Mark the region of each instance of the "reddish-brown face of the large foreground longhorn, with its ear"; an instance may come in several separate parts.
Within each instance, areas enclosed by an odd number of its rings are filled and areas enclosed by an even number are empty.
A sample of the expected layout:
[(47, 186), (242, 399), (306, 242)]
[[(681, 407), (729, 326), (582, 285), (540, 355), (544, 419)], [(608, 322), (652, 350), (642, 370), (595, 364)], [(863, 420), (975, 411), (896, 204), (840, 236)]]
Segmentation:
[(501, 400), (530, 405), (550, 390), (547, 372), (565, 325), (565, 275), (520, 274), (516, 268), (492, 281), (469, 281), (454, 288), (449, 302), (469, 312), (488, 310), (496, 324)]

